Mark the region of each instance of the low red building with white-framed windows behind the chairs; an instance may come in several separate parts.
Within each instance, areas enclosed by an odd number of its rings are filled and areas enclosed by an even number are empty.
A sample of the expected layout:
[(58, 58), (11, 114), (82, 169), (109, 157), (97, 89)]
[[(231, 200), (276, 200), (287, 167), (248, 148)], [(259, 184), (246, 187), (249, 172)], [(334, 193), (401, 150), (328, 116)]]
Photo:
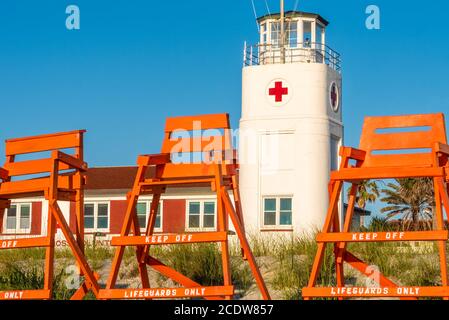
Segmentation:
[[(126, 211), (126, 194), (131, 190), (137, 167), (91, 168), (85, 189), (86, 239), (93, 237), (108, 242), (120, 233)], [(151, 195), (142, 196), (137, 214), (142, 230), (146, 227)], [(72, 227), (75, 225), (74, 203), (60, 202), (61, 209)], [(48, 205), (43, 198), (13, 201), (1, 224), (2, 238), (45, 235)], [(211, 231), (216, 228), (215, 195), (206, 188), (172, 189), (162, 196), (156, 220), (156, 232), (176, 233)], [(58, 230), (57, 244), (64, 245)]]

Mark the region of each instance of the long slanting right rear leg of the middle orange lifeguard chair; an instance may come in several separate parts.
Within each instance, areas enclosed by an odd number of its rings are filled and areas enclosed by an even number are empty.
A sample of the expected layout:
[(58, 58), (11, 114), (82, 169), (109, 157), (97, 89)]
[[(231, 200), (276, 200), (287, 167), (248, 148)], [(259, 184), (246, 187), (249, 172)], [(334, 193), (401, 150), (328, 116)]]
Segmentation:
[(232, 201), (229, 198), (228, 191), (226, 190), (225, 187), (221, 188), (221, 198), (224, 202), (225, 209), (229, 217), (231, 218), (232, 224), (234, 225), (235, 232), (239, 237), (240, 245), (242, 246), (243, 252), (248, 259), (250, 269), (254, 275), (254, 278), (256, 279), (256, 283), (257, 286), (259, 287), (260, 292), (262, 293), (262, 297), (264, 300), (270, 300), (271, 299), (270, 294), (266, 287), (265, 281), (263, 280), (262, 274), (260, 273), (260, 269), (257, 266), (256, 259), (254, 258), (249, 242), (246, 239), (245, 232), (243, 231), (243, 227), (240, 223), (237, 213), (234, 210)]

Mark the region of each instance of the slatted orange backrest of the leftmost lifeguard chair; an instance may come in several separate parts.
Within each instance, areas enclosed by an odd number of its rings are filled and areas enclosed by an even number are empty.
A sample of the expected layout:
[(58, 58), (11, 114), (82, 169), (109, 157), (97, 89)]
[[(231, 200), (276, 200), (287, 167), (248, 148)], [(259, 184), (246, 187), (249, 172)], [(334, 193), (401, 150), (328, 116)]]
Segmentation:
[[(35, 157), (37, 159), (17, 161), (17, 156), (46, 151), (65, 151), (66, 149), (73, 149), (74, 153), (71, 155), (83, 160), (84, 132), (86, 130), (8, 139), (6, 140), (6, 163), (4, 167), (11, 177), (49, 173), (53, 165), (51, 158), (39, 159), (37, 155)], [(59, 169), (67, 170), (69, 167), (61, 163)]]

